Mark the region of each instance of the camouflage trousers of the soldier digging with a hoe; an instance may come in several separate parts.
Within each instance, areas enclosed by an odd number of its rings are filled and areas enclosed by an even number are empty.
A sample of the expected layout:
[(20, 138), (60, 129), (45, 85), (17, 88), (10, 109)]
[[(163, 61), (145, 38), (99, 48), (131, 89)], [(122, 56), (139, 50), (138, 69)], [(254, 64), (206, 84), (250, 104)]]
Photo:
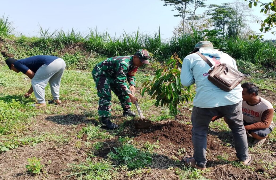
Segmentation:
[(92, 71), (92, 76), (96, 84), (97, 94), (100, 98), (98, 108), (99, 117), (111, 116), (111, 91), (119, 98), (123, 109), (131, 107), (130, 98), (128, 95), (124, 95), (123, 91), (118, 88), (115, 78), (93, 72), (94, 70)]

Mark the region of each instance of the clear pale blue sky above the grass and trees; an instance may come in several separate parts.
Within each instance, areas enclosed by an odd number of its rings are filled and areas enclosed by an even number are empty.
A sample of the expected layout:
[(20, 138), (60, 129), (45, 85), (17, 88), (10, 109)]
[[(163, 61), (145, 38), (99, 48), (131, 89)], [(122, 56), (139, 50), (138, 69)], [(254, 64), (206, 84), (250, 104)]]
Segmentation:
[[(244, 0), (240, 0), (244, 1)], [(264, 0), (267, 2), (269, 0)], [(233, 0), (207, 0), (206, 4), (221, 4)], [(160, 31), (162, 38), (172, 36), (174, 27), (179, 22), (179, 17), (174, 17), (175, 11), (171, 6), (163, 6), (160, 0), (13, 0), (2, 1), (0, 16), (5, 14), (13, 21), (16, 31), (28, 36), (38, 35), (39, 25), (50, 31), (62, 28), (88, 33), (89, 28), (97, 27), (98, 31), (106, 29), (111, 35), (137, 31), (150, 33)], [(254, 14), (264, 19), (259, 13), (260, 8), (254, 7)], [(201, 9), (198, 12), (203, 12)], [(251, 27), (259, 32), (258, 24)], [(275, 39), (275, 35), (266, 33), (266, 39)]]

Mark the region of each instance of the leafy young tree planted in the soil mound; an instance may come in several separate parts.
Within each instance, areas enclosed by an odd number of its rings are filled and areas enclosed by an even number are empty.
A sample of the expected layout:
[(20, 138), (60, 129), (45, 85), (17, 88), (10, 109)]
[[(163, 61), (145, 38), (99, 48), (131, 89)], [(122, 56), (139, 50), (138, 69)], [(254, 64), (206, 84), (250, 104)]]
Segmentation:
[(182, 64), (182, 60), (174, 54), (171, 56), (167, 66), (156, 71), (155, 78), (152, 81), (146, 81), (143, 83), (143, 88), (140, 89), (140, 93), (144, 96), (147, 92), (151, 99), (156, 99), (155, 106), (168, 106), (170, 114), (178, 114), (177, 105), (184, 101), (192, 101), (194, 93), (190, 91), (190, 87), (183, 87), (180, 82), (181, 69), (179, 63)]

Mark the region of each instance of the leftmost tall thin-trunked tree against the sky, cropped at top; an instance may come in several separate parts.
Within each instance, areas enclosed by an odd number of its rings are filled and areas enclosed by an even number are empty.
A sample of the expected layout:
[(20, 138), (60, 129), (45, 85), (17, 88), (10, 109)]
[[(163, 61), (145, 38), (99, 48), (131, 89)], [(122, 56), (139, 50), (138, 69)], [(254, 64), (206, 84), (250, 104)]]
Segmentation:
[(172, 11), (177, 11), (178, 14), (175, 17), (182, 18), (182, 31), (183, 34), (190, 33), (192, 31), (193, 23), (196, 19), (196, 10), (199, 7), (205, 7), (203, 1), (206, 0), (161, 0), (164, 1), (164, 6), (173, 6)]

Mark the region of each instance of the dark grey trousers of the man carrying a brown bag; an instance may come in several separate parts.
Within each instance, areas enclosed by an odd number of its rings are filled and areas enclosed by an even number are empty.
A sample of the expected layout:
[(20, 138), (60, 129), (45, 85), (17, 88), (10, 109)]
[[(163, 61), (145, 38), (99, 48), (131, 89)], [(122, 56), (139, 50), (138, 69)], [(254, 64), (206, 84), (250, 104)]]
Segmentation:
[(242, 101), (237, 104), (214, 108), (193, 107), (193, 158), (195, 159), (195, 162), (199, 167), (206, 167), (207, 130), (212, 117), (216, 115), (223, 115), (227, 119), (227, 124), (229, 128), (232, 130), (237, 158), (240, 161), (245, 161), (247, 159), (248, 144), (246, 131), (243, 126), (243, 115), (241, 105)]

